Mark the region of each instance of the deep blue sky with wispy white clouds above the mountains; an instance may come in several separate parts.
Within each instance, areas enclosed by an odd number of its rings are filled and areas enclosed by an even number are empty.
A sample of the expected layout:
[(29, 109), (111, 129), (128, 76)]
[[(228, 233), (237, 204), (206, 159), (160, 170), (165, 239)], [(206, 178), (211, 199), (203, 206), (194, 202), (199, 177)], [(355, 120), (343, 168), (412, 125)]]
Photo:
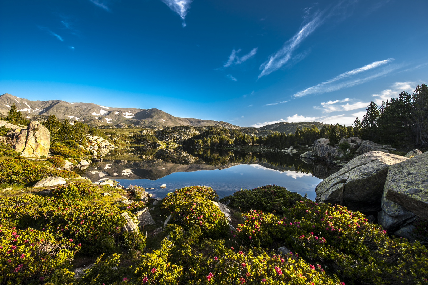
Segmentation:
[(0, 93), (351, 124), (428, 81), (426, 0), (2, 0)]

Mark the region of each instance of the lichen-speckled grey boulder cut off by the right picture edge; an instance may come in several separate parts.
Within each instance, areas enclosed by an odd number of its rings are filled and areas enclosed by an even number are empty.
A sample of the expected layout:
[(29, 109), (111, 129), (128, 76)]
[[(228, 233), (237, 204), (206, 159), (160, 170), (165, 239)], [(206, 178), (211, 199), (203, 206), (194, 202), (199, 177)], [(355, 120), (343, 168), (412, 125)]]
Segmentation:
[(428, 219), (428, 153), (391, 166), (384, 193), (386, 199)]

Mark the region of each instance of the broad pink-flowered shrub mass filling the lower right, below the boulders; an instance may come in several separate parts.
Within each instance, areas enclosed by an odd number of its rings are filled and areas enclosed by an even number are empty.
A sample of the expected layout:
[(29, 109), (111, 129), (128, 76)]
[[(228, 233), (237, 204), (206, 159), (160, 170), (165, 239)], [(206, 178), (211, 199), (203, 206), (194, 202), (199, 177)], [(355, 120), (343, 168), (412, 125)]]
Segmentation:
[(424, 246), (389, 238), (363, 214), (345, 207), (305, 201), (286, 210), (282, 219), (264, 219), (266, 215), (257, 211), (243, 216), (246, 220), (237, 232), (244, 244), (251, 244), (254, 235), (259, 240), (280, 241), (346, 282), (395, 284), (395, 280), (402, 280), (419, 284), (428, 277)]

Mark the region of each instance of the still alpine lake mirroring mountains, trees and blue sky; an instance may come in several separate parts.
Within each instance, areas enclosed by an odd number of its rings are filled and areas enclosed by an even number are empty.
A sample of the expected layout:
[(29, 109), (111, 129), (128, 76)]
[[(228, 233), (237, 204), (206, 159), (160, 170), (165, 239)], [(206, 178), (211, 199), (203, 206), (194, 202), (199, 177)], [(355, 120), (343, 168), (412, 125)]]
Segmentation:
[[(223, 198), (240, 189), (275, 184), (315, 200), (315, 186), (338, 169), (300, 159), (304, 151), (126, 146), (75, 171), (92, 182), (114, 179), (125, 187), (153, 188), (147, 191), (154, 198), (193, 185), (209, 186)], [(160, 188), (163, 184), (166, 187)]]

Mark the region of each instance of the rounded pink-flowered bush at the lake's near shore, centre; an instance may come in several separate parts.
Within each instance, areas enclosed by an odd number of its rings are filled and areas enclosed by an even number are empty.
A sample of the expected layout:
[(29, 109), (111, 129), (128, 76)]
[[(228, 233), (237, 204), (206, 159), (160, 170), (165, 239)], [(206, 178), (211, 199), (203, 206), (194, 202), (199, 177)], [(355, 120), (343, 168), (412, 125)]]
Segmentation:
[(162, 207), (171, 211), (171, 222), (183, 226), (185, 230), (199, 225), (207, 236), (219, 236), (228, 230), (229, 223), (220, 209), (209, 200), (216, 196), (210, 187), (184, 187), (168, 193)]

